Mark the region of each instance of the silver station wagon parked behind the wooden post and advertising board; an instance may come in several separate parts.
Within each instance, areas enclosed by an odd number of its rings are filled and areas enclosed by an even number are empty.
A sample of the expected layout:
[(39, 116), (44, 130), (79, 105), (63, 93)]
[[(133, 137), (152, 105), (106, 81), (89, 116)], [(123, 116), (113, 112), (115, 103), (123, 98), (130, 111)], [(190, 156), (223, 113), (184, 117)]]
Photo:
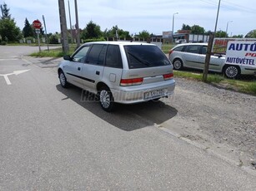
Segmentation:
[[(182, 70), (183, 67), (203, 70), (207, 47), (207, 43), (180, 44), (169, 51), (168, 58), (172, 61), (173, 69), (175, 70)], [(236, 78), (240, 75), (254, 75), (255, 72), (248, 66), (226, 64), (225, 55), (212, 55), (209, 71), (223, 73), (228, 78)]]

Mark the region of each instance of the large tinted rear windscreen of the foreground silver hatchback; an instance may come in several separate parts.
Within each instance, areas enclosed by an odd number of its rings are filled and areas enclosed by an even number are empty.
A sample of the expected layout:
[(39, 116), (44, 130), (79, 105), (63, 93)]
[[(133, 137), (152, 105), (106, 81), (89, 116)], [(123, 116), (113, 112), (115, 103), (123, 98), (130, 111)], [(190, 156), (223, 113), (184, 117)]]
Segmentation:
[(171, 65), (163, 51), (156, 46), (127, 45), (124, 50), (130, 69)]

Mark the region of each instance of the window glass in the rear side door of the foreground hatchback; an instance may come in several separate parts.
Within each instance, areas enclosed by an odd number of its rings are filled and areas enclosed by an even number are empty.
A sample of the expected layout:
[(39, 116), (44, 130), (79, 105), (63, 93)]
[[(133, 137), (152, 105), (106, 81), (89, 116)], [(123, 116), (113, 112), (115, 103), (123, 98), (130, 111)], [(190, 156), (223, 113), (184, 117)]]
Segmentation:
[[(103, 47), (105, 49), (103, 50)], [(86, 63), (94, 64), (94, 65), (103, 65), (104, 54), (106, 52), (106, 45), (93, 45), (91, 50), (88, 53), (88, 58)]]

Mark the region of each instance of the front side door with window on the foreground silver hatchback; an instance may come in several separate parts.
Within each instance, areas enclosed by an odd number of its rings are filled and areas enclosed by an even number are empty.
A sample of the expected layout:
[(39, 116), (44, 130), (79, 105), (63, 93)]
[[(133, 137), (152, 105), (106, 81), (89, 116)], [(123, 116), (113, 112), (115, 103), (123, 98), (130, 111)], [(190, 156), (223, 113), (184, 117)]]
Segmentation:
[(89, 46), (80, 47), (71, 56), (71, 61), (64, 66), (67, 81), (71, 84), (83, 88), (83, 62), (88, 53)]

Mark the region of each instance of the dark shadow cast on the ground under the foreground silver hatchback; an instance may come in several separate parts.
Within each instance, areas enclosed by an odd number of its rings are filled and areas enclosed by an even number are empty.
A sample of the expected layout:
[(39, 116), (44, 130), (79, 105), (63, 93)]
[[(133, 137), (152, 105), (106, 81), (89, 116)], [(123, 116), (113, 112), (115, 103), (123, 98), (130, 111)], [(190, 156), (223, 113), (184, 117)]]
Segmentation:
[(67, 96), (63, 101), (68, 99), (75, 101), (78, 105), (83, 106), (84, 109), (89, 110), (120, 130), (132, 131), (154, 124), (160, 125), (164, 121), (172, 119), (178, 113), (178, 110), (166, 105), (161, 100), (135, 105), (119, 104), (113, 113), (108, 113), (101, 108), (97, 100), (84, 99), (84, 91), (76, 86), (69, 86), (68, 89), (64, 89), (58, 85), (56, 88)]

